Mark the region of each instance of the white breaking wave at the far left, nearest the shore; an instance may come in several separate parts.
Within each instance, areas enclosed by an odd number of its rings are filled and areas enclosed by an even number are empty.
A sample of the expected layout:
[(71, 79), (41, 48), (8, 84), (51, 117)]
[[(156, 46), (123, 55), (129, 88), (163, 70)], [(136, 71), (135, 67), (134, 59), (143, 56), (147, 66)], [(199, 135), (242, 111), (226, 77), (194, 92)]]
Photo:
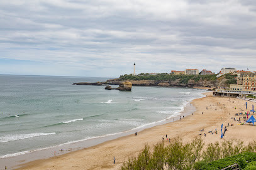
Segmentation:
[(28, 139), (31, 137), (38, 137), (41, 135), (53, 135), (56, 134), (55, 132), (53, 133), (34, 133), (34, 134), (12, 134), (12, 135), (5, 135), (0, 137), (0, 143), (4, 142), (9, 142), (9, 141), (18, 141), (21, 139)]

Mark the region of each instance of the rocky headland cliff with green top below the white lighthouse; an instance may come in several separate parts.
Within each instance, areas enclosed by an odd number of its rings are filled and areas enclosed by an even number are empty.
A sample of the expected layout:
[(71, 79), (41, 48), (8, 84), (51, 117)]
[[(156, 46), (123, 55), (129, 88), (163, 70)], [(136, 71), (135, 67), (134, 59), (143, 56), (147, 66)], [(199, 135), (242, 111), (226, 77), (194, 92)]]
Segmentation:
[(209, 87), (228, 88), (230, 83), (236, 83), (235, 76), (226, 74), (217, 78), (216, 75), (121, 75), (120, 78), (96, 83), (74, 83), (75, 85), (120, 85), (129, 81), (138, 86), (159, 87)]

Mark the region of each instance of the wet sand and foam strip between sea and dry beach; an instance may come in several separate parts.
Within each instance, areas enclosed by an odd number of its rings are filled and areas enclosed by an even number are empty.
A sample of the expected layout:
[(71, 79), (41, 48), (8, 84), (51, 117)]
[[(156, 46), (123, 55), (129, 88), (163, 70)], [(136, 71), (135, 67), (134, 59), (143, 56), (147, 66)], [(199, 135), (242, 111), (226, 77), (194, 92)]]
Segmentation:
[[(202, 94), (203, 93), (204, 92), (202, 92)], [(113, 141), (113, 140), (119, 139), (120, 137), (133, 135), (135, 134), (135, 132), (141, 132), (143, 130), (150, 129), (158, 125), (169, 124), (171, 122), (175, 122), (179, 120), (179, 116), (182, 117), (184, 115), (184, 117), (186, 117), (187, 115), (192, 115), (192, 112), (196, 110), (196, 108), (193, 105), (191, 105), (192, 100), (188, 100), (187, 104), (182, 106), (183, 109), (181, 111), (178, 111), (177, 114), (174, 114), (173, 116), (171, 115), (170, 117), (159, 120), (157, 122), (145, 124), (145, 125), (142, 125), (142, 127), (135, 127), (133, 129), (125, 130), (123, 132), (118, 132), (115, 134), (106, 134), (106, 135), (101, 135), (97, 137), (92, 137), (91, 139), (71, 141), (71, 142), (67, 142), (57, 146), (45, 147), (45, 148), (35, 149), (32, 151), (17, 152), (15, 153), (17, 155), (0, 158), (0, 164), (5, 164), (9, 168), (11, 167), (12, 169), (13, 168), (16, 169), (19, 167), (22, 168), (23, 164), (29, 164), (31, 161), (38, 161), (38, 160), (50, 159), (51, 157), (55, 157), (54, 155), (55, 151), (56, 151), (56, 156), (63, 156), (65, 154), (70, 154), (70, 153), (72, 154), (72, 152), (75, 152), (75, 151), (80, 151), (82, 149), (87, 149), (89, 147), (94, 147), (100, 144), (104, 144), (105, 142)], [(61, 151), (61, 149), (64, 149), (64, 151)], [(10, 155), (13, 155), (13, 154), (10, 154)]]

